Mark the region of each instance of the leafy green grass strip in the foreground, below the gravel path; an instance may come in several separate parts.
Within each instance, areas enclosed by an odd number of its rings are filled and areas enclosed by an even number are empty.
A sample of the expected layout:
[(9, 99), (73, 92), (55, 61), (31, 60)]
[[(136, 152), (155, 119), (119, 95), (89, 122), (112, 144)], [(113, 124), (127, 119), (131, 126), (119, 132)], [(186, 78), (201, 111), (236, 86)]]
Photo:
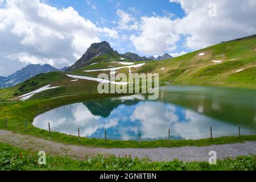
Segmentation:
[(217, 160), (216, 165), (208, 162), (151, 162), (148, 159), (132, 159), (130, 156), (115, 157), (98, 155), (85, 156), (84, 160), (68, 157), (46, 156), (46, 165), (38, 164), (35, 152), (0, 143), (0, 171), (255, 171), (255, 156), (240, 156), (236, 159)]

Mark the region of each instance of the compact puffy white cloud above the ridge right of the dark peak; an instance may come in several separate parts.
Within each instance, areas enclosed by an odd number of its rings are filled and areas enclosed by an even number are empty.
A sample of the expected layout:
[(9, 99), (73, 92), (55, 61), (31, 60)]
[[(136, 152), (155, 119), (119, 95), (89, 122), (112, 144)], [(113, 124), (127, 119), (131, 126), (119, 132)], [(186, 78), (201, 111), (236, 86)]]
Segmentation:
[(175, 21), (166, 17), (143, 16), (140, 35), (132, 35), (130, 39), (139, 52), (163, 55), (165, 51), (174, 50), (176, 42), (180, 39), (174, 28)]

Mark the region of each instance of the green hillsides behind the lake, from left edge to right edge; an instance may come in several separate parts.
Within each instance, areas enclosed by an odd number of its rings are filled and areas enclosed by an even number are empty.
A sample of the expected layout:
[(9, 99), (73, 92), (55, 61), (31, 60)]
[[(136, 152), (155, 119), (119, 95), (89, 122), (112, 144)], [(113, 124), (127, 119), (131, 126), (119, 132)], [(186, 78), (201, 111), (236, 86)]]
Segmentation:
[[(135, 64), (146, 64), (141, 68), (131, 68), (131, 70), (134, 73), (159, 73), (161, 85), (217, 85), (255, 89), (255, 49), (256, 39), (221, 43), (164, 61), (136, 62)], [(200, 53), (202, 53), (201, 56), (199, 55)], [(60, 86), (60, 88), (45, 90), (35, 94), (31, 99), (61, 96), (64, 94), (96, 92), (98, 82), (81, 79), (72, 82), (71, 80), (73, 79), (68, 77), (67, 74), (88, 77), (97, 77), (102, 72), (110, 74), (110, 71), (84, 71), (125, 66), (119, 63), (113, 63), (113, 61), (118, 60), (119, 58), (116, 56), (104, 55), (94, 58), (91, 61), (94, 64), (87, 65), (73, 72), (40, 74), (12, 88), (0, 89), (0, 100), (19, 100), (18, 96), (30, 93), (49, 84), (51, 86)], [(119, 69), (118, 73), (126, 73), (128, 75), (129, 69)]]

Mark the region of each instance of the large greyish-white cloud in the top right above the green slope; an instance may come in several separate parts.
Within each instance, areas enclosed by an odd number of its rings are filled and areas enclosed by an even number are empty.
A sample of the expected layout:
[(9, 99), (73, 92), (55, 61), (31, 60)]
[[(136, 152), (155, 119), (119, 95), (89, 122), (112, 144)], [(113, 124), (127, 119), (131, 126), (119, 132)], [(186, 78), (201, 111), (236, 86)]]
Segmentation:
[[(176, 32), (189, 35), (185, 46), (200, 49), (224, 40), (256, 32), (256, 1), (253, 0), (170, 0), (180, 3), (186, 15), (176, 24)], [(209, 16), (209, 5), (217, 7), (217, 16)]]

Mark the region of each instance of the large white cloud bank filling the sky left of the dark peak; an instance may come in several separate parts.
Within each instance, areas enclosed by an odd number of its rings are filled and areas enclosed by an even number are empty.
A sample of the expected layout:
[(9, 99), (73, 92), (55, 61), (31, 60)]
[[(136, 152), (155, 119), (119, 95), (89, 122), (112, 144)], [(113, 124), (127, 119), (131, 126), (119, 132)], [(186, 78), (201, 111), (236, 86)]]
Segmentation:
[(39, 0), (8, 0), (0, 8), (0, 60), (5, 62), (16, 55), (23, 63), (51, 63), (61, 68), (73, 64), (90, 44), (100, 42), (100, 36), (117, 38), (117, 34), (97, 27), (72, 7), (57, 9)]

